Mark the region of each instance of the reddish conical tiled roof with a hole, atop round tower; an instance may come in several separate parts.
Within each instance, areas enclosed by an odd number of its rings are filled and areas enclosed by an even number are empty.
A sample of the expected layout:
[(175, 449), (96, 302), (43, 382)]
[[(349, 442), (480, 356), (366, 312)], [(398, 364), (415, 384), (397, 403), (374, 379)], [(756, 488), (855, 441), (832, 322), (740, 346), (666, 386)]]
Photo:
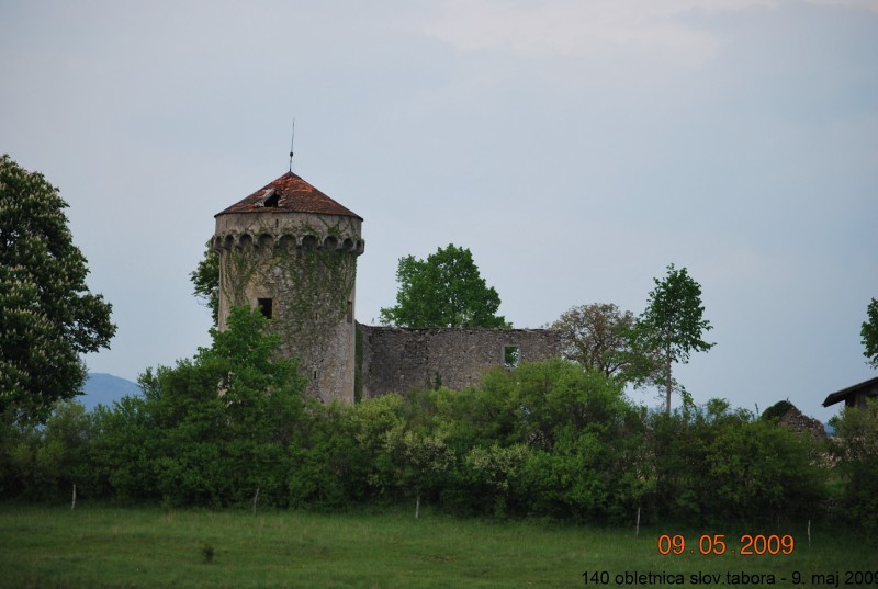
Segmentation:
[(341, 206), (293, 172), (286, 172), (214, 216), (218, 217), (229, 213), (269, 212), (316, 213), (319, 215), (338, 215), (363, 219), (360, 215)]

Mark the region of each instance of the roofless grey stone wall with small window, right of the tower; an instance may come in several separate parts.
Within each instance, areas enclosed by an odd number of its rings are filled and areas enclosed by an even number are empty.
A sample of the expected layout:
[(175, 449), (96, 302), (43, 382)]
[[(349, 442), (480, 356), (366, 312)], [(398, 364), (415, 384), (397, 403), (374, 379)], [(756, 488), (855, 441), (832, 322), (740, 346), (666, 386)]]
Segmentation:
[[(363, 398), (431, 388), (438, 382), (461, 390), (475, 385), (488, 367), (549, 360), (561, 353), (561, 337), (549, 329), (359, 328)], [(515, 349), (518, 354), (513, 353)]]

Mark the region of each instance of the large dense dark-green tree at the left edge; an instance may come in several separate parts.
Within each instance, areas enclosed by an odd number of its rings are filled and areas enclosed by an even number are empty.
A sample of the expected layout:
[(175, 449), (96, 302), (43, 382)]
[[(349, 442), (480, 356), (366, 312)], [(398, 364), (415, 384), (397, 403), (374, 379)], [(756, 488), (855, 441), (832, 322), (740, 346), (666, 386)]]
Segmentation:
[(0, 158), (0, 412), (45, 418), (86, 378), (79, 354), (106, 348), (111, 305), (86, 285), (67, 203), (43, 174)]

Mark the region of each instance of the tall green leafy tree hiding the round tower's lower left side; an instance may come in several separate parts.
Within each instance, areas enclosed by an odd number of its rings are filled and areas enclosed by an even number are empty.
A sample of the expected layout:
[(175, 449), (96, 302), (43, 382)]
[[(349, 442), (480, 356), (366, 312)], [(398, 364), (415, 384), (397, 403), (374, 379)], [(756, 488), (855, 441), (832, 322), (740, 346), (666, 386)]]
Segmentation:
[(167, 428), (157, 464), (160, 492), (177, 503), (289, 500), (286, 448), (302, 411), (304, 380), (277, 358), (280, 336), (257, 309), (235, 307), (213, 346), (159, 373), (159, 422)]

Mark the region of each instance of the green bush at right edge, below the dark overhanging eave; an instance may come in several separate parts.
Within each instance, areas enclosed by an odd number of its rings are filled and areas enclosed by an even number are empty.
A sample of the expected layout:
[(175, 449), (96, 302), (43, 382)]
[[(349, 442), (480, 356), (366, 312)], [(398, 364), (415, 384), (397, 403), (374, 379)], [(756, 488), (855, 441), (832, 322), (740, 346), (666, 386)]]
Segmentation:
[(845, 407), (832, 418), (838, 437), (834, 454), (844, 482), (842, 502), (851, 523), (878, 531), (878, 400)]

